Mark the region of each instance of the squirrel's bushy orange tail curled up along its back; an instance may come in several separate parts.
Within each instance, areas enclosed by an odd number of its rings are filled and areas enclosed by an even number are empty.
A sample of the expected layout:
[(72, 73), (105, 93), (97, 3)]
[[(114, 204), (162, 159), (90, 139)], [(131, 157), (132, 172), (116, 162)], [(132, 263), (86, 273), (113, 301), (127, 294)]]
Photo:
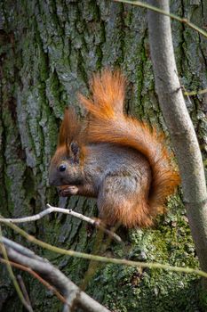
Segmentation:
[(92, 78), (92, 98), (79, 95), (92, 114), (88, 135), (92, 143), (107, 142), (131, 147), (141, 152), (152, 169), (148, 195), (151, 216), (163, 211), (167, 196), (179, 185), (179, 173), (171, 164), (163, 133), (123, 113), (125, 78), (120, 71), (103, 70)]

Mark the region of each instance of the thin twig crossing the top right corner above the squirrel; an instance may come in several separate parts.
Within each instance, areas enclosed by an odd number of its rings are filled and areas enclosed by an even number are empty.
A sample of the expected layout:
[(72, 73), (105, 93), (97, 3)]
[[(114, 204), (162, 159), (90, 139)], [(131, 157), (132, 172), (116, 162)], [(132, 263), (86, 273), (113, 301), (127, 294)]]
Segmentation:
[(196, 26), (191, 21), (188, 21), (187, 19), (179, 17), (178, 15), (175, 15), (173, 13), (165, 12), (165, 11), (157, 8), (154, 5), (146, 4), (146, 3), (141, 2), (141, 1), (130, 1), (130, 0), (114, 0), (114, 1), (115, 2), (121, 2), (123, 4), (137, 5), (137, 6), (140, 6), (140, 7), (143, 7), (143, 8), (147, 8), (148, 10), (151, 10), (151, 11), (158, 12), (158, 13), (161, 13), (163, 15), (169, 16), (172, 20), (180, 21), (181, 23), (186, 24), (191, 29), (196, 30), (198, 33), (202, 34), (204, 37), (207, 37), (207, 32), (205, 30), (203, 30), (203, 29), (200, 29), (198, 26)]

